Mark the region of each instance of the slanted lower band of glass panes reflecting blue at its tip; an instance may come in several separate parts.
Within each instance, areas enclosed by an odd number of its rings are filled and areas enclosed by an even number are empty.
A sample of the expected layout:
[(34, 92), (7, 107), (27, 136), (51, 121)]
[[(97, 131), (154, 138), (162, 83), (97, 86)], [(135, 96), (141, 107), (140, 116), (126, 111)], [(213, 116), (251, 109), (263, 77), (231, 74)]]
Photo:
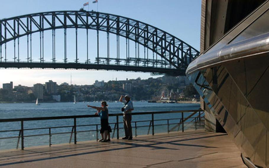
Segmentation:
[[(265, 166), (265, 130), (260, 117), (224, 67), (208, 68), (189, 76), (199, 94), (236, 145), (255, 164)], [(257, 131), (259, 130), (259, 131)]]

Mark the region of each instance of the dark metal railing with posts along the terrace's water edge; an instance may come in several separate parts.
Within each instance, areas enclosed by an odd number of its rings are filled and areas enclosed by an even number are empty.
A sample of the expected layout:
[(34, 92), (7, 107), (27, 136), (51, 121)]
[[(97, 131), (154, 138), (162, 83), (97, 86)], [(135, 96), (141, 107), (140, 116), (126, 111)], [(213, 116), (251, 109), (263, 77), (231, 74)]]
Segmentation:
[[(184, 118), (184, 113), (189, 113), (192, 112), (191, 114), (189, 114), (189, 116)], [(154, 120), (154, 114), (169, 114), (169, 113), (181, 113), (181, 118), (170, 118), (170, 119), (155, 119)], [(197, 116), (193, 117), (195, 114), (197, 114)], [(184, 123), (185, 124), (190, 124), (190, 123), (195, 123), (195, 130), (196, 130), (196, 124), (197, 122), (201, 122), (201, 118), (204, 118), (204, 112), (201, 109), (198, 110), (182, 110), (182, 111), (164, 111), (164, 112), (135, 112), (132, 113), (132, 115), (149, 115), (151, 114), (151, 120), (142, 120), (142, 121), (133, 121), (132, 123), (134, 123), (134, 129), (135, 129), (135, 137), (137, 136), (137, 128), (139, 127), (148, 127), (148, 135), (150, 133), (150, 129), (152, 132), (152, 135), (154, 135), (154, 127), (156, 126), (163, 126), (163, 125), (167, 125), (167, 133), (174, 131), (176, 127), (178, 127), (179, 131), (179, 127), (182, 126), (182, 132), (184, 132)], [(123, 122), (119, 122), (119, 116), (122, 116), (122, 113), (118, 113), (118, 114), (109, 114), (109, 116), (111, 117), (116, 117), (116, 122), (114, 123), (110, 123), (110, 125), (114, 125), (113, 130), (113, 134), (112, 134), (112, 138), (114, 138), (115, 132), (117, 134), (117, 139), (119, 139), (119, 129), (122, 129), (123, 127), (119, 127), (120, 123)], [(74, 138), (74, 144), (77, 144), (77, 133), (82, 133), (82, 132), (92, 132), (95, 131), (96, 132), (96, 140), (98, 140), (98, 126), (101, 124), (89, 124), (89, 125), (77, 125), (77, 119), (78, 118), (90, 118), (90, 117), (99, 117), (96, 115), (76, 115), (76, 116), (60, 116), (60, 117), (36, 117), (36, 118), (16, 118), (16, 119), (0, 119), (0, 123), (1, 122), (20, 122), (20, 126), (21, 129), (17, 129), (17, 130), (1, 130), (0, 133), (4, 133), (4, 132), (19, 132), (18, 136), (10, 136), (10, 137), (0, 137), (1, 139), (9, 139), (9, 138), (18, 138), (17, 140), (17, 149), (19, 148), (19, 143), (21, 142), (21, 150), (24, 150), (24, 138), (25, 137), (34, 137), (34, 136), (45, 136), (48, 135), (49, 136), (49, 146), (52, 145), (51, 143), (51, 137), (52, 135), (58, 135), (58, 134), (70, 134), (70, 139), (69, 139), (69, 143), (72, 142), (72, 138)], [(37, 120), (54, 120), (54, 119), (74, 119), (74, 125), (68, 125), (68, 126), (58, 126), (58, 127), (41, 127), (41, 128), (30, 128), (30, 129), (24, 129), (24, 122), (25, 121), (37, 121)], [(179, 122), (169, 122), (171, 120), (179, 120)], [(157, 121), (167, 121), (165, 124), (154, 124), (154, 122)], [(189, 121), (189, 122), (187, 122)], [(137, 126), (137, 123), (140, 122), (150, 122), (149, 125), (140, 125)], [(175, 125), (173, 128), (169, 128), (170, 125)], [(96, 129), (94, 130), (82, 130), (82, 131), (77, 131), (77, 127), (85, 127), (85, 126), (95, 126)], [(56, 129), (56, 128), (72, 128), (71, 132), (58, 132), (58, 133), (51, 133), (52, 129)], [(48, 133), (44, 133), (44, 134), (35, 134), (35, 135), (24, 135), (25, 131), (28, 130), (44, 130), (47, 129)]]

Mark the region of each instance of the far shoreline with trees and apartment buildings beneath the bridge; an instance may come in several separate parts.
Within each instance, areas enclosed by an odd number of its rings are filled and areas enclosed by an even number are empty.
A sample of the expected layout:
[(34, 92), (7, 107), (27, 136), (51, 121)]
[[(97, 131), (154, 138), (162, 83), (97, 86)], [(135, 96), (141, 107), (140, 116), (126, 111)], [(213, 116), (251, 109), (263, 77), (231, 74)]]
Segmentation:
[(188, 85), (185, 76), (163, 76), (146, 80), (141, 80), (141, 78), (124, 79), (108, 82), (96, 80), (93, 85), (69, 85), (66, 82), (57, 84), (55, 81), (48, 80), (45, 83), (36, 83), (30, 87), (13, 85), (11, 81), (4, 83), (3, 89), (0, 89), (0, 103), (38, 102), (38, 100), (42, 102), (70, 102), (74, 101), (74, 96), (77, 101), (94, 101), (104, 98), (115, 101), (120, 95), (126, 94), (134, 97), (140, 95), (138, 98), (140, 100), (148, 100), (149, 98), (157, 100), (160, 99), (161, 95), (162, 100), (165, 101), (182, 100), (185, 96), (192, 98), (195, 94), (193, 89)]

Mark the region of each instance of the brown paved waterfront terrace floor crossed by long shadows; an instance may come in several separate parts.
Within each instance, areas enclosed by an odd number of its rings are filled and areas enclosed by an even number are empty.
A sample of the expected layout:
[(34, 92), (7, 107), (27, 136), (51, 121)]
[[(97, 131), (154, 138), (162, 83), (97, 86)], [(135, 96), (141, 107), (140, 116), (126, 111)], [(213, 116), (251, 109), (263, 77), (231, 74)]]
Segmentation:
[(246, 167), (228, 135), (189, 131), (0, 152), (3, 167)]

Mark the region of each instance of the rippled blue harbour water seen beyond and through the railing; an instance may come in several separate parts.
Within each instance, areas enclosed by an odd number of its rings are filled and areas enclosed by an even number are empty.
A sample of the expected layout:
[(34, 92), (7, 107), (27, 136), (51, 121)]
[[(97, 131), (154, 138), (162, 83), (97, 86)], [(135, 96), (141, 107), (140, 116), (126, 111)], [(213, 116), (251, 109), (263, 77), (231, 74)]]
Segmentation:
[[(17, 104), (0, 104), (0, 118), (28, 118), (28, 117), (54, 117), (54, 116), (71, 116), (71, 115), (89, 115), (96, 112), (95, 109), (87, 107), (87, 104), (93, 106), (100, 106), (101, 102), (78, 102), (74, 104), (73, 102), (67, 103), (41, 103), (40, 106), (34, 103), (17, 103)], [(157, 111), (172, 111), (172, 110), (196, 110), (200, 108), (200, 104), (161, 104), (161, 103), (148, 103), (148, 102), (133, 102), (134, 113), (135, 112), (157, 112)], [(108, 109), (110, 114), (120, 113), (120, 109), (123, 106), (120, 102), (108, 102)], [(189, 114), (185, 113), (185, 117)], [(155, 114), (154, 119), (171, 119), (180, 118), (181, 114)], [(150, 120), (151, 115), (135, 115), (132, 117), (132, 121), (142, 121)], [(121, 122), (121, 118), (119, 118)], [(42, 121), (26, 121), (24, 122), (24, 129), (31, 128), (41, 128), (41, 127), (58, 127), (58, 126), (72, 126), (73, 119), (59, 119), (59, 120), (42, 120)], [(116, 122), (116, 117), (110, 117), (109, 122)], [(173, 122), (173, 121), (171, 121)], [(179, 122), (174, 120), (174, 123)], [(155, 124), (166, 123), (166, 121), (156, 121)], [(95, 118), (80, 118), (77, 119), (77, 125), (89, 125), (89, 124), (100, 124), (100, 119)], [(19, 130), (20, 122), (5, 122), (0, 123), (0, 131), (2, 130)], [(139, 122), (137, 126), (149, 125), (149, 122)], [(120, 128), (123, 127), (122, 124), (119, 125)], [(171, 124), (171, 127), (173, 124)], [(114, 128), (114, 125), (111, 125)], [(72, 127), (68, 128), (55, 128), (51, 129), (51, 133), (59, 132), (71, 132)], [(84, 126), (77, 127), (77, 131), (83, 130), (95, 130), (96, 126)], [(99, 125), (100, 129), (100, 125)], [(167, 126), (157, 126), (155, 128), (155, 133), (166, 132)], [(147, 134), (148, 127), (140, 127), (137, 129), (137, 135)], [(48, 129), (43, 130), (28, 130), (25, 131), (24, 135), (36, 135), (36, 134), (47, 134)], [(123, 136), (123, 129), (120, 129), (120, 136)], [(134, 133), (134, 131), (133, 131)], [(15, 132), (3, 132), (0, 133), (0, 138), (18, 136), (19, 131)], [(100, 135), (98, 135), (100, 137)], [(112, 136), (112, 135), (111, 135)], [(51, 137), (52, 144), (67, 143), (69, 142), (69, 134), (59, 134), (53, 135)], [(115, 136), (114, 136), (115, 138)], [(12, 149), (16, 148), (18, 138), (11, 139), (0, 139), (0, 150), (1, 149)], [(40, 146), (48, 145), (49, 137), (45, 136), (33, 136), (25, 137), (25, 147), (29, 146)], [(96, 140), (96, 131), (92, 132), (82, 132), (77, 134), (77, 141), (85, 140)]]

